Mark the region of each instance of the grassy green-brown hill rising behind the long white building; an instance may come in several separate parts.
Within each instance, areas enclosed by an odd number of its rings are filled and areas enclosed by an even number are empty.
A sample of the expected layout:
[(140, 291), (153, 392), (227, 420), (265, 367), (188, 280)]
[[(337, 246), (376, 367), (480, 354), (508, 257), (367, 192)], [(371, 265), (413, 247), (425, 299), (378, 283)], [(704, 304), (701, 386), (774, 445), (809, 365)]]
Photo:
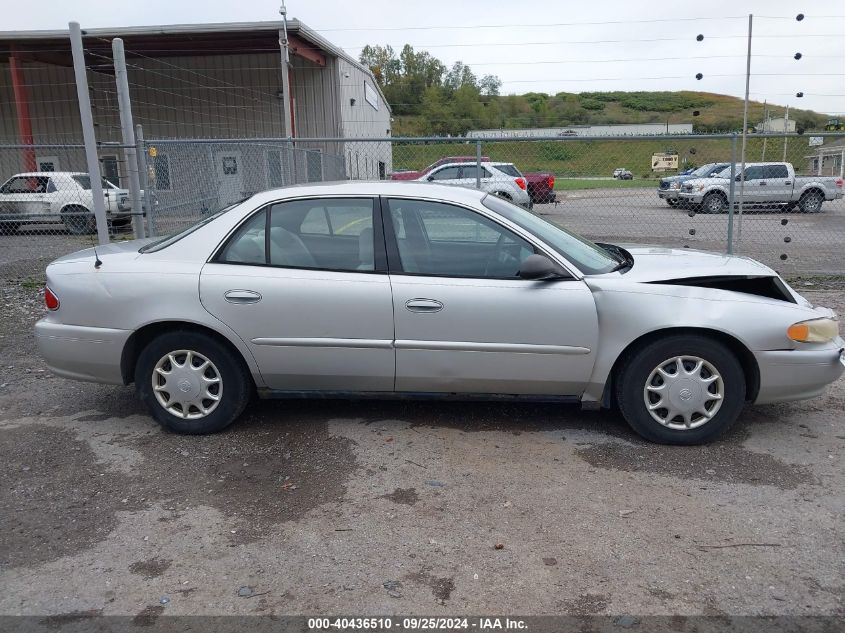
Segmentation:
[[(692, 123), (696, 132), (728, 132), (742, 128), (743, 101), (709, 92), (560, 92), (482, 97), (471, 128), (524, 129), (608, 123)], [(795, 101), (799, 101), (797, 98)], [(794, 104), (793, 104), (794, 105)], [(749, 103), (749, 126), (764, 118), (766, 106)], [(769, 104), (770, 117), (784, 115), (785, 107)], [(694, 116), (693, 112), (698, 112)], [(790, 108), (789, 117), (807, 131), (824, 128), (829, 116)], [(418, 136), (433, 128), (427, 113), (395, 115), (394, 136)]]

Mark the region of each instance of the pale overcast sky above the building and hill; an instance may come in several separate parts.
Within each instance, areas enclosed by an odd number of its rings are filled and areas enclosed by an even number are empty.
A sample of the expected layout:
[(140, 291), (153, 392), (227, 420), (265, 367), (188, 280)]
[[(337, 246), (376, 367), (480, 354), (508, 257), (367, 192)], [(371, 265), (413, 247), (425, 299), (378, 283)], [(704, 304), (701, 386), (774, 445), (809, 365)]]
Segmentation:
[[(37, 11), (4, 11), (0, 29), (61, 29), (71, 20), (84, 29), (279, 18), (279, 4), (272, 0), (34, 4)], [(807, 16), (802, 22), (795, 20), (799, 12)], [(741, 97), (748, 13), (755, 14), (752, 99), (845, 113), (845, 7), (837, 2), (288, 2), (290, 17), (356, 57), (364, 44), (398, 50), (409, 43), (447, 65), (461, 60), (479, 76), (498, 75), (503, 94), (703, 90)], [(704, 35), (702, 42), (696, 41), (698, 34)], [(793, 59), (797, 52), (800, 61)], [(700, 81), (695, 79), (699, 72)], [(804, 98), (796, 98), (796, 92)]]

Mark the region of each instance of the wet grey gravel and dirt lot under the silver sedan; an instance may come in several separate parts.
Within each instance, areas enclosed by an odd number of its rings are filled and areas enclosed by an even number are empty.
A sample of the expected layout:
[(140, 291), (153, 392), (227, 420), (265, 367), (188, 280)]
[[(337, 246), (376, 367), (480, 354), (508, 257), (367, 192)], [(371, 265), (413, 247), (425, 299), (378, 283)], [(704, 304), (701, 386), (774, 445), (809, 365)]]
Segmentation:
[(843, 380), (701, 448), (557, 405), (258, 402), (181, 437), (51, 377), (38, 291), (0, 293), (2, 614), (845, 611)]

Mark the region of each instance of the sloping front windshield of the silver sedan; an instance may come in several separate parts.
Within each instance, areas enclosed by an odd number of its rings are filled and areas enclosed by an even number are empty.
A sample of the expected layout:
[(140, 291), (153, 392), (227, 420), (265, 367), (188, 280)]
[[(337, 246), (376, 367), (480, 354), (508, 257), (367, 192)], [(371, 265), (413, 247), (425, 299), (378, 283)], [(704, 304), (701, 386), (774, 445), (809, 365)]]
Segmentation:
[(570, 233), (498, 196), (485, 196), (481, 203), (488, 209), (536, 235), (575, 264), (584, 274), (609, 273), (619, 264), (619, 260), (601, 246)]

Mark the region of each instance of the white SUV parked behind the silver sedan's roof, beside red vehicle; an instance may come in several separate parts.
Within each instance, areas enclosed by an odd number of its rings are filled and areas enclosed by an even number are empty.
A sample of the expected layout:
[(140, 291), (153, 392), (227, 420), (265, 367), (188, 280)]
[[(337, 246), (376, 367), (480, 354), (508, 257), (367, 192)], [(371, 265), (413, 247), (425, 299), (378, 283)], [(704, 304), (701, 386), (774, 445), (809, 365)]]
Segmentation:
[(492, 193), (505, 200), (530, 209), (531, 196), (528, 195), (528, 180), (513, 163), (482, 162), (478, 177), (477, 163), (460, 162), (441, 165), (417, 180), (436, 182), (440, 185), (458, 185)]

